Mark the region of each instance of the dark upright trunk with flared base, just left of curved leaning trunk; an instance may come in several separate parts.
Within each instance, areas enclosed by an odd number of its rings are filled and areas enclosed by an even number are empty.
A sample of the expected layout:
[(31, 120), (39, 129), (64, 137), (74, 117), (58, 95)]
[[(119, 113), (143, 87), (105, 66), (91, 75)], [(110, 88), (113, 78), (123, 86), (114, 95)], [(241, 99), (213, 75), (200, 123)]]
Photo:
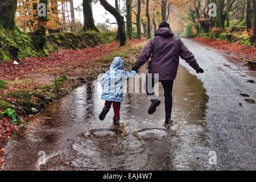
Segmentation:
[(94, 23), (92, 0), (83, 0), (82, 7), (84, 11), (84, 31), (94, 30), (99, 32)]

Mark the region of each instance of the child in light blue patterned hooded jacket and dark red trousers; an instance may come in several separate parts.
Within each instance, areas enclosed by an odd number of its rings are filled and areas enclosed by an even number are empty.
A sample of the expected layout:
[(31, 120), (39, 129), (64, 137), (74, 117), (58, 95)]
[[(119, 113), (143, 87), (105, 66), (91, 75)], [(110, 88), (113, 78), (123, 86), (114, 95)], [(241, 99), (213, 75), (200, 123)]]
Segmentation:
[(103, 121), (109, 113), (111, 106), (114, 109), (114, 125), (119, 127), (120, 107), (123, 101), (123, 82), (137, 75), (136, 71), (123, 71), (123, 61), (120, 57), (115, 57), (110, 70), (100, 78), (102, 86), (102, 100), (105, 100), (105, 106), (100, 114), (100, 120)]

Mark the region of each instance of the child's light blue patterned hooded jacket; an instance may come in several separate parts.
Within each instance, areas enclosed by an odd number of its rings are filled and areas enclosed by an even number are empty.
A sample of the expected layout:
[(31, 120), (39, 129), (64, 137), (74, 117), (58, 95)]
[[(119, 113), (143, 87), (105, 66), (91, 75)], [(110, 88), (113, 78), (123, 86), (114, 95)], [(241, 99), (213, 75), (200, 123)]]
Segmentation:
[(123, 82), (135, 77), (137, 72), (123, 71), (123, 61), (120, 57), (115, 57), (110, 70), (100, 78), (102, 86), (101, 99), (105, 101), (123, 101)]

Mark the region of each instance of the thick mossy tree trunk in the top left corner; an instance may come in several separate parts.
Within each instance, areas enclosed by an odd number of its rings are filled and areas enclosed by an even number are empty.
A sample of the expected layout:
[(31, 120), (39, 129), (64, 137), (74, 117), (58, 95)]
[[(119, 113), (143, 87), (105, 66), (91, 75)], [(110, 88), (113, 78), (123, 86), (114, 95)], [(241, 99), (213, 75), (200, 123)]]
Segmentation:
[(0, 0), (0, 28), (15, 30), (17, 0)]

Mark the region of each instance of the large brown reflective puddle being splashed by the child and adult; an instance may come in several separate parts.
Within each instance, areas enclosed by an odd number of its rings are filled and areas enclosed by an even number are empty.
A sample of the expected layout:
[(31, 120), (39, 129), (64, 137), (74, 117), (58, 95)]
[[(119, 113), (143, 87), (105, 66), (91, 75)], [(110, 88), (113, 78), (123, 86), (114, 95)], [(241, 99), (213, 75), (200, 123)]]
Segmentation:
[[(142, 72), (145, 72), (146, 67)], [(126, 94), (121, 120), (127, 122), (123, 136), (109, 129), (113, 110), (105, 121), (98, 115), (104, 106), (97, 81), (77, 88), (63, 100), (28, 118), (27, 125), (6, 146), (6, 170), (173, 170), (209, 169), (209, 143), (204, 123), (208, 100), (203, 83), (184, 67), (174, 84), (172, 119), (178, 127), (165, 129), (164, 96), (154, 115), (146, 94)], [(185, 100), (184, 100), (185, 99)], [(146, 139), (139, 140), (137, 134)], [(179, 135), (177, 135), (179, 131)], [(38, 152), (45, 151), (47, 163), (38, 168)], [(52, 155), (56, 154), (58, 155)], [(194, 154), (202, 154), (200, 162)], [(193, 165), (192, 165), (193, 164)]]

